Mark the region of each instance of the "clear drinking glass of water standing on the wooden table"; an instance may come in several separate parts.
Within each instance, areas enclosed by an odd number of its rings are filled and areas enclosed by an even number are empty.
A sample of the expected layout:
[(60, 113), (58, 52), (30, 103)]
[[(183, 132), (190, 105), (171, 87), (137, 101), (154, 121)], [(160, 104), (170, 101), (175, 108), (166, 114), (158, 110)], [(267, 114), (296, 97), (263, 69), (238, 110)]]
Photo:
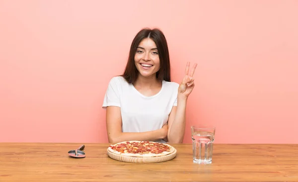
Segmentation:
[(193, 162), (198, 164), (211, 164), (215, 135), (215, 127), (205, 128), (191, 126), (193, 142)]

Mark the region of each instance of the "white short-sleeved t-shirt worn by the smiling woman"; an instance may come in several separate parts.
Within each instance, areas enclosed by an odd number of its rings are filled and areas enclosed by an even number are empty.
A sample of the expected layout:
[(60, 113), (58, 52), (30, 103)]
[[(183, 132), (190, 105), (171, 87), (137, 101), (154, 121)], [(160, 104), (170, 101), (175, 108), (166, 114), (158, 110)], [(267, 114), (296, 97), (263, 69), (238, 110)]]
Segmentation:
[[(106, 106), (121, 107), (122, 132), (146, 132), (162, 128), (173, 106), (177, 106), (179, 84), (162, 81), (161, 90), (152, 96), (141, 94), (121, 77), (113, 77), (103, 100)], [(165, 143), (164, 140), (156, 142)]]

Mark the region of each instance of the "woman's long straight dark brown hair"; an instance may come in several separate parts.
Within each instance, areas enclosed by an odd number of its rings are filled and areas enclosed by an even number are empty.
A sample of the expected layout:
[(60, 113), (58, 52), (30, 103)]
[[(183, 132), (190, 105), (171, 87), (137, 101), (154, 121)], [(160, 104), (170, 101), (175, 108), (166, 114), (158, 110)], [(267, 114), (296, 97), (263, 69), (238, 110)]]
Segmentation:
[(135, 65), (135, 54), (137, 47), (144, 38), (150, 38), (157, 46), (160, 69), (156, 73), (156, 78), (160, 81), (165, 80), (171, 82), (169, 50), (165, 36), (158, 28), (143, 28), (137, 33), (130, 47), (127, 65), (122, 75), (123, 78), (128, 83), (134, 83), (137, 80), (139, 71)]

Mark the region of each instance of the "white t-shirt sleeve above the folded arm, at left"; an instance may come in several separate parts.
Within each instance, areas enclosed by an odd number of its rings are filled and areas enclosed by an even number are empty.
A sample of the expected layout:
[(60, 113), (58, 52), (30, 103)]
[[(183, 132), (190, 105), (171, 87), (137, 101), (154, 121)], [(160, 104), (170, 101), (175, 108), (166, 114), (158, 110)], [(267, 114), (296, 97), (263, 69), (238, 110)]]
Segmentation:
[(107, 106), (120, 107), (120, 86), (120, 82), (117, 78), (114, 77), (111, 79), (104, 95), (102, 108), (106, 108)]

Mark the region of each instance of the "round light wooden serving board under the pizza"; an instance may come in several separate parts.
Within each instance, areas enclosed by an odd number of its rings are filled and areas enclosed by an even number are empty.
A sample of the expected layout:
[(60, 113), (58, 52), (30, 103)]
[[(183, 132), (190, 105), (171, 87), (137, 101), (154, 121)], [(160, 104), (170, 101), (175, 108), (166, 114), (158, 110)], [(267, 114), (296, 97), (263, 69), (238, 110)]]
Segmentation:
[(127, 163), (160, 163), (174, 159), (176, 157), (176, 153), (177, 150), (175, 149), (172, 154), (161, 157), (128, 157), (114, 154), (108, 151), (108, 156), (114, 160)]

